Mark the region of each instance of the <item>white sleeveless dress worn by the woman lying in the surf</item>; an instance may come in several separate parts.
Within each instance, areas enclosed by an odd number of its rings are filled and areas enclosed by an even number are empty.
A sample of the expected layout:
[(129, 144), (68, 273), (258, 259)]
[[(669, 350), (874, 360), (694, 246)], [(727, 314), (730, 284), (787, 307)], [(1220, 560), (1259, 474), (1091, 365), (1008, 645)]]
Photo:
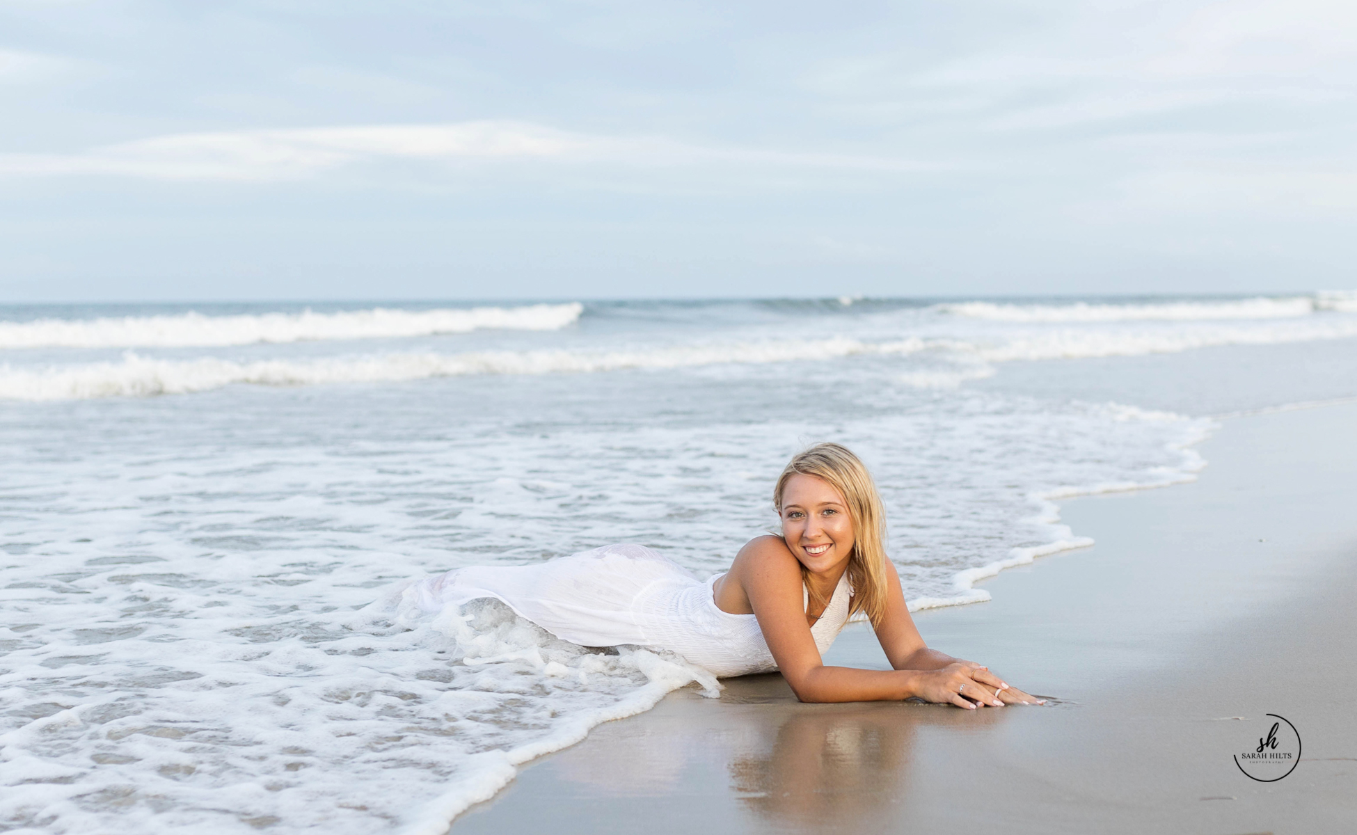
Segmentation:
[[(551, 634), (582, 646), (631, 644), (668, 649), (718, 678), (778, 669), (754, 615), (716, 608), (712, 584), (639, 544), (522, 566), (471, 566), (426, 577), (404, 591), (426, 612), (495, 597)], [(848, 620), (852, 589), (839, 580), (810, 627), (824, 654)], [(803, 600), (809, 597), (802, 589)]]

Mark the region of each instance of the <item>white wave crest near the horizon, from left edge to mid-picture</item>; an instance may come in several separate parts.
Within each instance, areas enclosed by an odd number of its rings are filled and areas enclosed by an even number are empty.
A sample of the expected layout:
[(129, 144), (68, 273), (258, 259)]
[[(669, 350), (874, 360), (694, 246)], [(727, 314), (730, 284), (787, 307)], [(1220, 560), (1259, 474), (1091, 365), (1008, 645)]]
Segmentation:
[(377, 307), (332, 314), (308, 310), (300, 314), (205, 316), (190, 311), (166, 316), (38, 319), (0, 322), (0, 349), (213, 348), (258, 342), (426, 337), (484, 329), (558, 330), (574, 323), (582, 312), (582, 304), (570, 303), (422, 311)]

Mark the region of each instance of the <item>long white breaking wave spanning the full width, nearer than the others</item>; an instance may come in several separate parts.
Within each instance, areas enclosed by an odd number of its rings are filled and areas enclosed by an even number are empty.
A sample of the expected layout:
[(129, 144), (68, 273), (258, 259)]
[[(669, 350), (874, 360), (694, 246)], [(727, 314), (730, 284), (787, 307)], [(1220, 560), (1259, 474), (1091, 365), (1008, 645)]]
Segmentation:
[(171, 360), (126, 352), (119, 361), (49, 367), (0, 367), (0, 398), (68, 401), (155, 396), (210, 391), (236, 383), (319, 386), (383, 383), (468, 375), (596, 373), (626, 369), (693, 368), (718, 364), (768, 364), (835, 360), (852, 356), (908, 356), (930, 352), (940, 368), (904, 368), (896, 379), (917, 388), (953, 388), (993, 373), (991, 364), (1022, 360), (1129, 357), (1181, 353), (1223, 345), (1281, 345), (1357, 337), (1357, 316), (1265, 323), (1205, 322), (1193, 326), (1132, 329), (1064, 327), (1030, 330), (987, 341), (905, 339), (871, 342), (767, 339), (635, 348), (630, 350), (486, 350), (465, 353), (346, 354), (322, 358)]

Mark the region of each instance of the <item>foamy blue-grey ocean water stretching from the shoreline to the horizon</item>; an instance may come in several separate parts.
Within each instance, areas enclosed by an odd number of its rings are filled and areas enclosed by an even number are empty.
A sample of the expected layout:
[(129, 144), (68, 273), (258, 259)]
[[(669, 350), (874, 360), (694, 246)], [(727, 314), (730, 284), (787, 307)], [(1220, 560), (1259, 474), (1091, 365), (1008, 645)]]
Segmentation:
[(1088, 544), (1060, 498), (1349, 396), (1342, 292), (0, 308), (0, 830), (442, 832), (716, 684), (498, 604), (406, 620), (403, 581), (609, 542), (711, 574), (837, 440), (911, 607), (977, 603)]

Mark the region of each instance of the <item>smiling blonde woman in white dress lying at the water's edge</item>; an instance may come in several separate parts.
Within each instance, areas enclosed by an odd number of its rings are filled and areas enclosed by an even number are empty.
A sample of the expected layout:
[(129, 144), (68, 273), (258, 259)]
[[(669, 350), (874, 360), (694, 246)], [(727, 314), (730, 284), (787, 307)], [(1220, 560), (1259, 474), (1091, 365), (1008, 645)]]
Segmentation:
[[(1041, 703), (989, 668), (924, 645), (886, 558), (877, 486), (847, 448), (820, 444), (792, 458), (773, 506), (782, 536), (752, 539), (706, 582), (647, 547), (615, 544), (537, 565), (456, 569), (404, 593), (425, 611), (495, 597), (558, 638), (665, 649), (718, 678), (779, 669), (802, 702)], [(894, 669), (825, 667), (824, 652), (856, 612)]]

